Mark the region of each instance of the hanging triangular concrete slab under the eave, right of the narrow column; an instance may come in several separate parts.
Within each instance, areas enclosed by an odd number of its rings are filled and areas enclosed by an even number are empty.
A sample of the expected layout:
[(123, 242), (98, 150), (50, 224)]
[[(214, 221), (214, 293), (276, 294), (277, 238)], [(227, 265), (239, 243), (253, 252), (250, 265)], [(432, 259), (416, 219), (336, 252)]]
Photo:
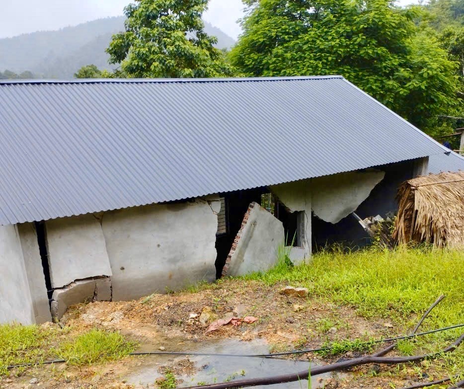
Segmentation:
[(352, 171), (314, 178), (311, 181), (314, 215), (338, 223), (356, 211), (384, 177), (384, 171)]

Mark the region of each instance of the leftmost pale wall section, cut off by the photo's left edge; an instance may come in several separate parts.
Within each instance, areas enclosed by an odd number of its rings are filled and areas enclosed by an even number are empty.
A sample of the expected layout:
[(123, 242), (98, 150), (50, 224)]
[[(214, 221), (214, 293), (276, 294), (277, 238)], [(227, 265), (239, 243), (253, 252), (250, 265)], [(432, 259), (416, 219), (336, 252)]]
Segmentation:
[(0, 275), (0, 323), (34, 323), (34, 307), (16, 226), (0, 226)]

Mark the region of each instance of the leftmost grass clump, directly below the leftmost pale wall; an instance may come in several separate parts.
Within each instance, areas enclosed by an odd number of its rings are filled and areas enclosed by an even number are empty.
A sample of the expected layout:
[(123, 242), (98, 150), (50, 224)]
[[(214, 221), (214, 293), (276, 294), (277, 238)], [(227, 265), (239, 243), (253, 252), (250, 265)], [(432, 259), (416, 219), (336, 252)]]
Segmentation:
[(0, 377), (7, 374), (9, 365), (40, 363), (50, 357), (57, 333), (37, 325), (0, 325)]

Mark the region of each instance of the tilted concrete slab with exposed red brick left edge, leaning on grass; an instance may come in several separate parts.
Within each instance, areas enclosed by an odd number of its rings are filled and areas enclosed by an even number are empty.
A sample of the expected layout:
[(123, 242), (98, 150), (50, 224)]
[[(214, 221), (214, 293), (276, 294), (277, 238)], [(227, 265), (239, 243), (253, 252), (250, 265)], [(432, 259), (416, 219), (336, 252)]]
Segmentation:
[(269, 270), (276, 264), (277, 248), (283, 242), (282, 222), (258, 204), (251, 203), (227, 257), (223, 276)]

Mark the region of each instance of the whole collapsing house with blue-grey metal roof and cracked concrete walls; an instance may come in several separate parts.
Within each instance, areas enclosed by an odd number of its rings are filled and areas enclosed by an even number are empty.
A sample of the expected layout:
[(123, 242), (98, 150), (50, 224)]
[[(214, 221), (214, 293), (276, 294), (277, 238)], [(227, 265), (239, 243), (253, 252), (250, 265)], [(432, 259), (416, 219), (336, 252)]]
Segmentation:
[(366, 239), (351, 214), (449, 152), (338, 76), (2, 81), (0, 150), (0, 322), (24, 324)]

